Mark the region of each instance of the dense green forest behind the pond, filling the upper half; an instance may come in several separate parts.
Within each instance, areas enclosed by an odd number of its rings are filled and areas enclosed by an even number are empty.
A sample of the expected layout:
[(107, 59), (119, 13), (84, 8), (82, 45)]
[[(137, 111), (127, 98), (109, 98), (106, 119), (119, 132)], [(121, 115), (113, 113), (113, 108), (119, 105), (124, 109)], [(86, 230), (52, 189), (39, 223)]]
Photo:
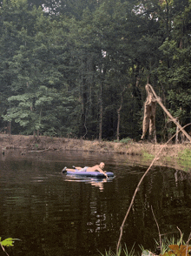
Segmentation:
[(3, 0), (0, 35), (1, 133), (140, 140), (147, 83), (191, 122), (190, 0)]

